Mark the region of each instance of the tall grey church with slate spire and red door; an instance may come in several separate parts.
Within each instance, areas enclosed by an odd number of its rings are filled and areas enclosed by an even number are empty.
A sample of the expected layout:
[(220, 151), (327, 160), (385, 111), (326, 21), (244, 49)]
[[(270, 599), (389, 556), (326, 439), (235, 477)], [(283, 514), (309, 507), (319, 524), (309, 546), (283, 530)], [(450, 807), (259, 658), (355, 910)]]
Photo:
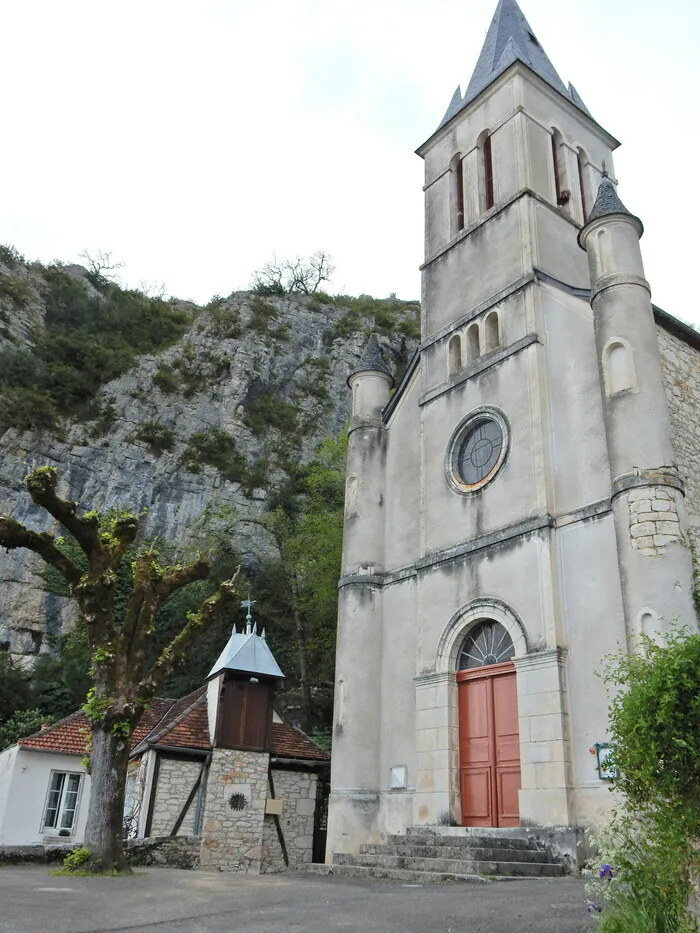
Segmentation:
[(614, 803), (605, 656), (697, 625), (700, 334), (651, 303), (618, 145), (500, 0), (417, 150), (418, 350), (393, 394), (376, 337), (348, 379), (329, 858), (580, 838)]

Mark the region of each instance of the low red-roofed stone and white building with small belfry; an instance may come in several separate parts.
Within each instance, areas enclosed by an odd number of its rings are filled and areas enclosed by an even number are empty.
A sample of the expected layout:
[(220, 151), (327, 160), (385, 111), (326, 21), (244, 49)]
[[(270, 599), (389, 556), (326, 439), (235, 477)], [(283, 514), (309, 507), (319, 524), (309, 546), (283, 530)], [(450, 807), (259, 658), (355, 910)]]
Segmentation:
[[(133, 737), (131, 839), (180, 837), (179, 858), (205, 869), (257, 874), (323, 860), (329, 757), (274, 709), (282, 677), (248, 626), (234, 629), (208, 685), (151, 703)], [(0, 754), (0, 845), (82, 842), (89, 732), (74, 713)]]

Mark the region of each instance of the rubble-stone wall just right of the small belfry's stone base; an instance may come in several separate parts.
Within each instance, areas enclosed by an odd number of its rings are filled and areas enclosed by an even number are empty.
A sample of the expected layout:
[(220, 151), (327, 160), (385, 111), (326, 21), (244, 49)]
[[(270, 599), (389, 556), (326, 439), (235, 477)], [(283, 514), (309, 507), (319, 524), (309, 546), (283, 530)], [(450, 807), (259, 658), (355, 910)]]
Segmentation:
[[(303, 868), (311, 862), (313, 853), (317, 777), (308, 771), (287, 771), (274, 768), (272, 781), (275, 785), (275, 799), (282, 801), (279, 821), (287, 847), (289, 867)], [(284, 870), (284, 858), (275, 820), (273, 816), (268, 815), (263, 824), (260, 871)]]

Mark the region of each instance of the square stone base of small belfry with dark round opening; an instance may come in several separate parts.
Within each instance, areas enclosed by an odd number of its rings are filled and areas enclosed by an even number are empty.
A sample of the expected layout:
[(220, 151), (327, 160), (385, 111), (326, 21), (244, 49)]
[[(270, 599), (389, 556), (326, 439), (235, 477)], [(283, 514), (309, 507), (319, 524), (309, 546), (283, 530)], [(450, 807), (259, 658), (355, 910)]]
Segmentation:
[(260, 873), (269, 761), (267, 752), (214, 749), (202, 830), (205, 871)]

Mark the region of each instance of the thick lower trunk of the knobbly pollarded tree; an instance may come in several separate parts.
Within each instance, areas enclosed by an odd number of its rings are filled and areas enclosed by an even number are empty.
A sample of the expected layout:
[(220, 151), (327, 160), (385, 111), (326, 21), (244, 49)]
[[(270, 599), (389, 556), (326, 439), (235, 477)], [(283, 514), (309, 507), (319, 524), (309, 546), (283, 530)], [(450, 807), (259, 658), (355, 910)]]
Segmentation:
[(92, 729), (92, 776), (85, 842), (94, 871), (130, 872), (124, 853), (123, 822), (129, 742), (97, 723)]

